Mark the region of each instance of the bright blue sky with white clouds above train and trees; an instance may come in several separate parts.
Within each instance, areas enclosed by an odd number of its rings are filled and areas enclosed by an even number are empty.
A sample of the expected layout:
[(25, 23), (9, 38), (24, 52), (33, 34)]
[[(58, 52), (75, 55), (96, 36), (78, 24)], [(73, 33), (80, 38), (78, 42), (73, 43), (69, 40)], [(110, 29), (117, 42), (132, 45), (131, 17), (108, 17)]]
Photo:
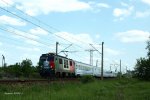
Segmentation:
[[(7, 65), (55, 52), (104, 69), (133, 70), (146, 57), (150, 35), (150, 0), (0, 0), (0, 55)], [(0, 56), (2, 61), (2, 56)], [(1, 66), (2, 64), (0, 64)]]

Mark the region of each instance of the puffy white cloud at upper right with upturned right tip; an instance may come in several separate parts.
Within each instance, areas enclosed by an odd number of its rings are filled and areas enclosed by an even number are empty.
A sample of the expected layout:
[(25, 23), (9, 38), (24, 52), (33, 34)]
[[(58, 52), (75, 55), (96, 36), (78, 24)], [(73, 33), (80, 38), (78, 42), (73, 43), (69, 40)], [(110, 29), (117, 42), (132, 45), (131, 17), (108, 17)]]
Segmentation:
[(128, 8), (115, 8), (113, 10), (113, 15), (120, 20), (124, 19), (127, 16), (130, 16), (133, 12), (134, 7), (128, 7)]

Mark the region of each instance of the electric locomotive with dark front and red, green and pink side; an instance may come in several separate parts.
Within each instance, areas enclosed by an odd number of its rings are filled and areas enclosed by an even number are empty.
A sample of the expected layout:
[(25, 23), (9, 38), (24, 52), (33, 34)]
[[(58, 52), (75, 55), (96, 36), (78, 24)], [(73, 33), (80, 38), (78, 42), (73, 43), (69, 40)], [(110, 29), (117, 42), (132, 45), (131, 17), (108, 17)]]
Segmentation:
[(39, 65), (42, 67), (40, 74), (44, 77), (75, 76), (75, 62), (55, 53), (42, 54)]

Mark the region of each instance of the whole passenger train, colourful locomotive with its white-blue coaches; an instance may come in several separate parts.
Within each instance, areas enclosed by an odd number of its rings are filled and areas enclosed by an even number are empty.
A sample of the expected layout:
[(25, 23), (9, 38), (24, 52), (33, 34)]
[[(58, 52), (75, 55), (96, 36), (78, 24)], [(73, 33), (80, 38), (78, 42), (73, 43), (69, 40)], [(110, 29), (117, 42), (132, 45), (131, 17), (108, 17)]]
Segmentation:
[[(84, 75), (101, 76), (101, 69), (97, 66), (85, 64), (55, 53), (42, 54), (39, 65), (43, 77), (77, 77)], [(111, 71), (104, 71), (103, 77), (116, 77), (117, 74)]]

